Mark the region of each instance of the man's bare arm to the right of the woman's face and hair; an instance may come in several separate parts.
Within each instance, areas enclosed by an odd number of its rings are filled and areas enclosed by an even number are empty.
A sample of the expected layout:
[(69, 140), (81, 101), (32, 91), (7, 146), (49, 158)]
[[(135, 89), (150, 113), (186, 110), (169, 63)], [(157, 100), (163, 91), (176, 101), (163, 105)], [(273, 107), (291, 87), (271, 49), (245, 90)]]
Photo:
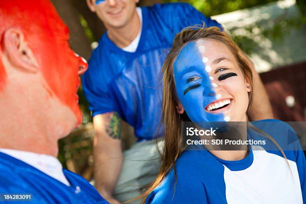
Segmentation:
[(239, 50), (239, 54), (241, 54), (246, 60), (246, 62), (249, 64), (253, 74), (253, 101), (248, 110), (250, 120), (273, 118), (273, 111), (269, 98), (266, 94), (260, 76), (254, 68), (253, 62), (241, 50)]

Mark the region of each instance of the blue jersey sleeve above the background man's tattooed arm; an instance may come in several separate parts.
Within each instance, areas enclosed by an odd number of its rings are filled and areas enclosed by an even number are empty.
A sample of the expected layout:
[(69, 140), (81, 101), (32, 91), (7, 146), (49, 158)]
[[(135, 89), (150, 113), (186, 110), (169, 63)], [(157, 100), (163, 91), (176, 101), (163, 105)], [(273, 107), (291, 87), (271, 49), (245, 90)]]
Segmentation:
[(101, 47), (98, 46), (92, 52), (88, 69), (82, 75), (82, 89), (89, 102), (89, 110), (92, 111), (92, 116), (115, 111), (106, 82), (108, 78), (102, 72), (102, 69), (107, 67), (102, 65), (99, 49)]

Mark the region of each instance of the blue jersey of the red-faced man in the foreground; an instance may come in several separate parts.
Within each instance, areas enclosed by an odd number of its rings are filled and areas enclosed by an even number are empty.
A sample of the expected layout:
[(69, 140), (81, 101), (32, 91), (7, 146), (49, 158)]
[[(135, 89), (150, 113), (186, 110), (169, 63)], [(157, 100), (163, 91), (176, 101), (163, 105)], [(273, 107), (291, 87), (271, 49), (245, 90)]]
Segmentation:
[(15, 200), (7, 203), (108, 203), (83, 177), (67, 169), (63, 169), (63, 173), (70, 186), (0, 152), (0, 193), (27, 193), (32, 198), (31, 201)]

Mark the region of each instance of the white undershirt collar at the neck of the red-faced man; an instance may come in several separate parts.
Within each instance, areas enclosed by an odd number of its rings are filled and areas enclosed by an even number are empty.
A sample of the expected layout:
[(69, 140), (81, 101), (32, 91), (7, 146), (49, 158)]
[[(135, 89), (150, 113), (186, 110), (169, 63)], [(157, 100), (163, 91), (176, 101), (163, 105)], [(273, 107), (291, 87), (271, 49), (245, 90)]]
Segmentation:
[(0, 151), (37, 168), (68, 186), (70, 185), (62, 172), (61, 163), (54, 156), (5, 148), (0, 148)]

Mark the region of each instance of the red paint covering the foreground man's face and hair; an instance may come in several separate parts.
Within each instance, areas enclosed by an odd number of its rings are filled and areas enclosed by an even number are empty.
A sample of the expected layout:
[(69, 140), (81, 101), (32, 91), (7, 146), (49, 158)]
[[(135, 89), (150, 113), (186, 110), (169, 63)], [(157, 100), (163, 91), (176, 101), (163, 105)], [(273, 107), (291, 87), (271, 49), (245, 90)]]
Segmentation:
[[(50, 97), (56, 96), (68, 106), (80, 123), (81, 112), (76, 95), (80, 83), (78, 72), (80, 65), (84, 71), (87, 64), (75, 56), (69, 47), (69, 30), (53, 5), (48, 0), (0, 1), (0, 13), (1, 24), (4, 22), (4, 26), (0, 28), (0, 36), (5, 27), (21, 29), (47, 82), (49, 88), (45, 88)], [(0, 72), (0, 87), (4, 83), (1, 74), (3, 73)]]

